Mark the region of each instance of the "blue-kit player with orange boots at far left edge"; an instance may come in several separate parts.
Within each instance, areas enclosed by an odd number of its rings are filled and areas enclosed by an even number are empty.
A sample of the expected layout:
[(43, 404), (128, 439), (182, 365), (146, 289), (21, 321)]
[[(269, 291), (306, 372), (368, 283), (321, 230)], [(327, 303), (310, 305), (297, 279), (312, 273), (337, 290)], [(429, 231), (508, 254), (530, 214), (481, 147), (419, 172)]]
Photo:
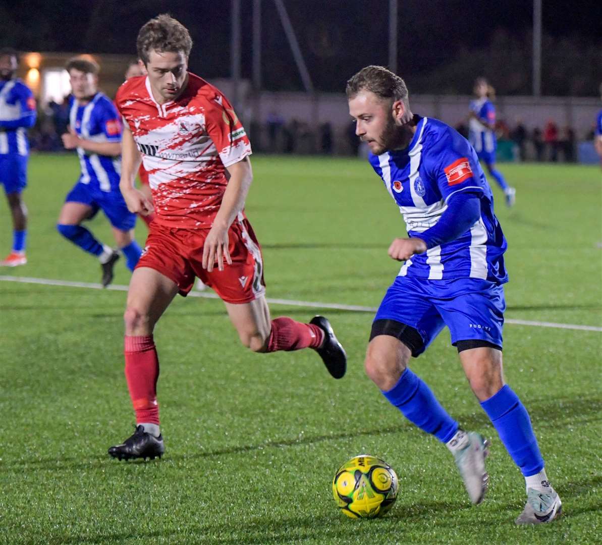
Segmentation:
[(14, 49), (0, 49), (0, 184), (13, 216), (13, 248), (2, 267), (25, 265), (27, 208), (21, 193), (27, 185), (27, 129), (36, 123), (36, 100), (14, 77), (19, 58)]

